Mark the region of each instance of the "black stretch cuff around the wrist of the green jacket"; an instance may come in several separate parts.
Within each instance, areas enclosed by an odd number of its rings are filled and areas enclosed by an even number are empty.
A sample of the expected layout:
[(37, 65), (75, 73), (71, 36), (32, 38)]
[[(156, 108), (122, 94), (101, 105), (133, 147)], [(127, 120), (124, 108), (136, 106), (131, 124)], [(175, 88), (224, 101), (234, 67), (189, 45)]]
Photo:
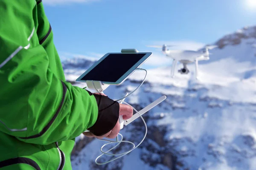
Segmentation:
[[(89, 93), (90, 94), (90, 93)], [(102, 136), (112, 130), (119, 118), (119, 103), (100, 94), (95, 96), (99, 112), (95, 124), (88, 128), (96, 136)]]

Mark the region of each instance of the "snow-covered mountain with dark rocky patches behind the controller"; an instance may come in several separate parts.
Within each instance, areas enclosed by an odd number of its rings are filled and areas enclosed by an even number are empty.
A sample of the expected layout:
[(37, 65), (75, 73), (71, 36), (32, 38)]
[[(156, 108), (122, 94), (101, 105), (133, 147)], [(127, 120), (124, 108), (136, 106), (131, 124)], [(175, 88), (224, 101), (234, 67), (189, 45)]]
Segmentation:
[[(140, 110), (160, 96), (167, 96), (143, 115), (148, 127), (144, 142), (116, 161), (97, 165), (94, 160), (105, 142), (81, 135), (72, 154), (73, 169), (256, 170), (254, 43), (256, 26), (245, 27), (213, 43), (218, 48), (209, 51), (209, 61), (199, 62), (199, 80), (194, 78), (193, 64), (188, 65), (188, 75), (179, 74), (177, 70), (182, 65), (178, 65), (174, 79), (170, 77), (170, 67), (148, 70), (146, 82), (125, 100)], [(64, 70), (67, 80), (73, 83), (95, 62), (70, 61), (64, 62)], [(137, 88), (143, 77), (143, 71), (134, 72), (122, 85), (110, 86), (105, 94), (118, 99)], [(84, 87), (85, 83), (74, 85)], [(137, 145), (145, 127), (137, 119), (120, 133)], [(129, 147), (120, 146), (118, 153)]]

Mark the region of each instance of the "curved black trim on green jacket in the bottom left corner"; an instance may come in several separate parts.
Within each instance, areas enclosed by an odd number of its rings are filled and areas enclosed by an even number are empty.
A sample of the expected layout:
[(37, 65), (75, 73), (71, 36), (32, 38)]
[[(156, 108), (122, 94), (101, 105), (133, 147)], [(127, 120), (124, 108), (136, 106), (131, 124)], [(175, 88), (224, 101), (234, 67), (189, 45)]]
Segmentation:
[(24, 157), (17, 157), (12, 159), (7, 159), (0, 162), (0, 168), (7, 167), (13, 164), (29, 164), (30, 166), (34, 167), (36, 170), (41, 170), (41, 168), (38, 166), (38, 164), (29, 158)]

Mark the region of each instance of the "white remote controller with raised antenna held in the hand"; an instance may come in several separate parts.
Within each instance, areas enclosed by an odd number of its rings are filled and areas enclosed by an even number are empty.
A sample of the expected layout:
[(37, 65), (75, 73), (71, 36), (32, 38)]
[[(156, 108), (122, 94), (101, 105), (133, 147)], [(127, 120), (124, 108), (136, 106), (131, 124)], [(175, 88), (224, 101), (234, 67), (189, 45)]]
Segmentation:
[[(139, 111), (140, 115), (143, 115), (144, 113), (146, 113), (147, 111), (149, 111), (150, 109), (154, 108), (156, 105), (158, 105), (159, 103), (163, 102), (166, 99), (166, 96), (161, 96), (160, 98), (156, 99), (154, 102), (152, 102), (151, 104), (147, 105), (145, 108), (143, 108), (142, 110)], [(123, 99), (124, 100), (124, 99)], [(122, 100), (122, 101), (123, 101)], [(122, 101), (120, 103), (122, 103)], [(140, 115), (138, 113), (134, 114), (130, 119), (124, 120), (123, 116), (120, 115), (119, 116), (119, 124), (120, 124), (120, 130), (125, 126), (129, 125), (131, 122), (133, 122), (135, 119), (137, 119), (138, 117), (140, 117)], [(85, 130), (84, 132), (90, 132), (89, 130)]]

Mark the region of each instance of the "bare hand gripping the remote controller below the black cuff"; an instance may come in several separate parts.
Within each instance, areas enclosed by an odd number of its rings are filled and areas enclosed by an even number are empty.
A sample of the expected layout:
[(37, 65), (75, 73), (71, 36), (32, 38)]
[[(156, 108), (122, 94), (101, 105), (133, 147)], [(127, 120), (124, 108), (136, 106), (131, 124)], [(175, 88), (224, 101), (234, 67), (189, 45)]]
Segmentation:
[[(101, 93), (94, 93), (94, 94), (106, 96), (105, 94), (101, 94)], [(124, 120), (130, 119), (133, 115), (133, 108), (129, 105), (119, 104), (119, 115), (123, 115)], [(83, 134), (84, 134), (84, 136), (96, 137), (98, 139), (102, 139), (104, 137), (113, 139), (113, 138), (116, 138), (119, 131), (120, 131), (120, 124), (119, 124), (119, 121), (117, 121), (115, 127), (113, 127), (113, 129), (111, 131), (109, 131), (108, 133), (106, 133), (103, 136), (95, 136), (91, 132), (84, 132)]]

